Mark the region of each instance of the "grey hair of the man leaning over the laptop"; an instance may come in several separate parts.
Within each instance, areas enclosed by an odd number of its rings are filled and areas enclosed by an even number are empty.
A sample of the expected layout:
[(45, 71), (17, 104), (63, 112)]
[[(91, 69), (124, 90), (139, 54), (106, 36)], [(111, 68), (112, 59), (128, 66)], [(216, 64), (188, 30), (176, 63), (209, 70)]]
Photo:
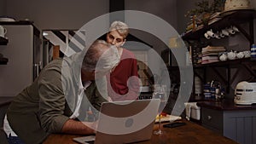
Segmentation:
[(103, 40), (96, 40), (84, 55), (82, 69), (87, 72), (93, 72), (96, 69), (106, 72), (117, 66), (119, 60), (120, 56), (115, 46)]

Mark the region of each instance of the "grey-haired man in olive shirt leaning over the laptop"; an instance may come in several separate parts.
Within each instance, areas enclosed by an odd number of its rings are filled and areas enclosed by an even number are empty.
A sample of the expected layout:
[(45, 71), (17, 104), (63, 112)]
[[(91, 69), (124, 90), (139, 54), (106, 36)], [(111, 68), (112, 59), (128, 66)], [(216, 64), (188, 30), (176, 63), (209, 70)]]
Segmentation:
[(21, 142), (37, 144), (51, 133), (94, 133), (95, 123), (84, 124), (84, 106), (99, 109), (106, 101), (107, 86), (98, 83), (99, 87), (96, 80), (105, 78), (118, 63), (116, 47), (99, 40), (87, 51), (50, 62), (9, 106), (7, 119), (15, 132), (5, 130), (9, 141), (12, 134)]

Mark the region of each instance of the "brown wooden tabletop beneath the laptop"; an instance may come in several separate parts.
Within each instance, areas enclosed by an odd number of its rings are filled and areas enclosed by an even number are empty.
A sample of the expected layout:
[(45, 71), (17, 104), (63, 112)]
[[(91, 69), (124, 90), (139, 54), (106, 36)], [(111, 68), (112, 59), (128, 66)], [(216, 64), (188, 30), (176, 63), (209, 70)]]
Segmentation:
[[(176, 128), (163, 128), (164, 135), (152, 135), (150, 141), (137, 142), (139, 144), (237, 144), (236, 141), (232, 141), (220, 134), (217, 134), (211, 130), (207, 130), (199, 124), (183, 120), (186, 124)], [(157, 128), (157, 124), (154, 129)], [(74, 137), (81, 135), (49, 135), (44, 141), (44, 144), (77, 144), (73, 141)]]

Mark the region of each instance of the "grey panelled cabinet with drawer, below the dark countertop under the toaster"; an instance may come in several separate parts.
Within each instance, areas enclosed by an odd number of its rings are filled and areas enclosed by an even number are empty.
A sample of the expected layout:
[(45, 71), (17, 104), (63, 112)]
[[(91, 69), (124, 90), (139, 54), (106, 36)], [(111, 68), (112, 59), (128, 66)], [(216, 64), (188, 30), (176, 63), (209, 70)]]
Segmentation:
[(225, 111), (201, 107), (201, 123), (238, 143), (256, 143), (256, 110)]

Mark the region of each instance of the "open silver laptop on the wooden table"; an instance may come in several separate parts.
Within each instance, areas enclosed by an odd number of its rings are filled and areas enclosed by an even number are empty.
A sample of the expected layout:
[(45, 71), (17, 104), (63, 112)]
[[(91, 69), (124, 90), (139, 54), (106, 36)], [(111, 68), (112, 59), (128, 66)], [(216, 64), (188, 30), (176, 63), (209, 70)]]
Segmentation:
[(160, 100), (103, 102), (96, 135), (73, 138), (83, 144), (120, 144), (151, 138)]

